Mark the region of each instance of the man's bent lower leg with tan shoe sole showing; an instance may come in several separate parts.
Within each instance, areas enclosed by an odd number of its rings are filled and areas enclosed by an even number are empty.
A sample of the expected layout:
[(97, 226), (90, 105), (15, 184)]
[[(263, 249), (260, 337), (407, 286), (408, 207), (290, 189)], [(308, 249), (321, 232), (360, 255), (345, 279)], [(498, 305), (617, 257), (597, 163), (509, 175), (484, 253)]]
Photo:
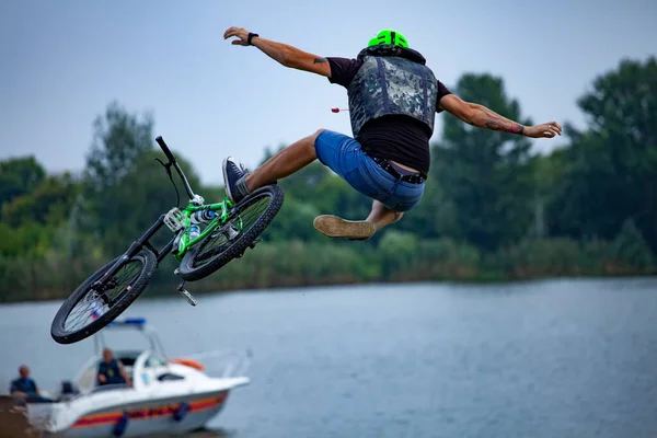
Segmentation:
[(322, 215), (314, 219), (313, 226), (330, 238), (367, 240), (383, 227), (400, 220), (402, 216), (403, 212), (393, 211), (374, 199), (372, 210), (365, 220), (345, 220), (333, 215)]

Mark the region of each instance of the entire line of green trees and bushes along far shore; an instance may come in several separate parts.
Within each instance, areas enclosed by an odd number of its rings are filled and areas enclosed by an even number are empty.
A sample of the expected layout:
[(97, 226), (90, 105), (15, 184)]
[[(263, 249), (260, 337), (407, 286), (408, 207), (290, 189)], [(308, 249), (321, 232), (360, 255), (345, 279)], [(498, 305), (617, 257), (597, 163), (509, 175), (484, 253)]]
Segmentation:
[[(502, 78), (465, 73), (453, 91), (532, 124)], [(654, 274), (657, 60), (622, 60), (577, 105), (586, 129), (565, 124), (567, 143), (549, 154), (527, 138), (443, 116), (423, 199), (365, 242), (313, 229), (318, 215), (361, 219), (371, 205), (315, 162), (279, 182), (286, 200), (264, 241), (193, 289)], [(173, 206), (152, 127), (152, 118), (111, 103), (93, 123), (81, 174), (49, 174), (35, 157), (0, 162), (0, 301), (68, 296)], [(174, 153), (198, 193), (223, 197), (184, 151)], [(174, 268), (164, 261), (147, 293), (172, 292)]]

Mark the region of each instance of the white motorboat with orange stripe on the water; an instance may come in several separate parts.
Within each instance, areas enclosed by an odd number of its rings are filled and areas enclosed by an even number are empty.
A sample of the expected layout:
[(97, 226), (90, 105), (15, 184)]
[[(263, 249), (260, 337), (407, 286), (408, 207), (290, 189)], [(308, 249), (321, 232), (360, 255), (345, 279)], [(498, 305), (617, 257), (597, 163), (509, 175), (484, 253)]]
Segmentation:
[[(148, 347), (113, 350), (131, 385), (99, 385), (105, 334), (119, 330), (140, 333)], [(182, 435), (203, 428), (221, 412), (230, 391), (250, 383), (244, 376), (250, 351), (169, 358), (158, 332), (145, 319), (114, 321), (94, 335), (94, 349), (76, 379), (61, 382), (53, 403), (27, 403), (34, 427), (58, 437)], [(215, 373), (208, 371), (210, 366)]]

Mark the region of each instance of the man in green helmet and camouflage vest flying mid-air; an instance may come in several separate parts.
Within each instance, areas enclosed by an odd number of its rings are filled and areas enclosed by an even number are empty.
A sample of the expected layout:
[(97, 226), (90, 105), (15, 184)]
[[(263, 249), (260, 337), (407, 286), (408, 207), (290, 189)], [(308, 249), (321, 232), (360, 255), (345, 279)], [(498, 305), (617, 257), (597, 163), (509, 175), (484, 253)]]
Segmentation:
[(353, 138), (320, 129), (253, 172), (231, 157), (223, 160), (226, 192), (233, 203), (315, 159), (373, 199), (365, 220), (316, 217), (314, 228), (331, 238), (369, 239), (419, 201), (429, 172), (436, 113), (447, 111), (480, 128), (532, 138), (562, 134), (556, 122), (522, 126), (483, 105), (462, 101), (436, 79), (425, 58), (411, 49), (399, 32), (379, 32), (356, 59), (323, 58), (240, 27), (227, 30), (223, 38), (230, 37), (235, 37), (234, 45), (255, 46), (285, 67), (324, 76), (347, 89)]

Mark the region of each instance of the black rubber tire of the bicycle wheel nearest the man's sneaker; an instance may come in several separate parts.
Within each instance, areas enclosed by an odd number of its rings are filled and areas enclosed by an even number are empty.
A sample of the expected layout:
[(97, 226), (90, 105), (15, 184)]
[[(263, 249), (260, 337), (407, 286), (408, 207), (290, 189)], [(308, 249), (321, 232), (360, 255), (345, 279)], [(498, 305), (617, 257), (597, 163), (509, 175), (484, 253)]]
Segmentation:
[(241, 208), (245, 208), (245, 206), (247, 206), (250, 203), (258, 199), (258, 197), (267, 194), (272, 197), (272, 201), (260, 215), (255, 223), (249, 230), (246, 230), (246, 232), (235, 239), (232, 244), (222, 251), (216, 258), (203, 266), (194, 267), (194, 262), (196, 261), (196, 256), (199, 254), (200, 250), (204, 247), (204, 242), (210, 239), (211, 235), (206, 237), (204, 240), (194, 245), (194, 247), (192, 247), (181, 261), (177, 269), (181, 278), (185, 281), (199, 280), (217, 272), (233, 258), (240, 257), (244, 251), (246, 251), (246, 249), (253, 244), (255, 239), (257, 239), (263, 231), (265, 231), (265, 228), (272, 223), (276, 215), (278, 215), (278, 211), (283, 206), (285, 195), (283, 188), (280, 188), (277, 184), (267, 185), (254, 191), (233, 207), (240, 210)]

